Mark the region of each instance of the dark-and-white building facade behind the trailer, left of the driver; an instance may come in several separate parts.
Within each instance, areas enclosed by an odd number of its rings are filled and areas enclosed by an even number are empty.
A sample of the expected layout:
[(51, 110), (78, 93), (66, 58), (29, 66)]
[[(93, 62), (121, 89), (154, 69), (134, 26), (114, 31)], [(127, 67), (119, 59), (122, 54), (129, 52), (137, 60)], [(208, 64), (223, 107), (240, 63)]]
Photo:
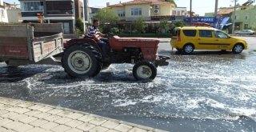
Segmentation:
[(46, 23), (62, 23), (64, 34), (74, 34), (76, 18), (83, 20), (82, 0), (19, 0), (23, 22), (38, 22), (38, 13)]

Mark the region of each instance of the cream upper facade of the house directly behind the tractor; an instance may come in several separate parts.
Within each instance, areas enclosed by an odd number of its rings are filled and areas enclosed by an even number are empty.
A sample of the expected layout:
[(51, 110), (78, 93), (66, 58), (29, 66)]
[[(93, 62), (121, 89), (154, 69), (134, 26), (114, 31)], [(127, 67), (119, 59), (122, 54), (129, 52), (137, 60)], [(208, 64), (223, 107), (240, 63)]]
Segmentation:
[(138, 18), (155, 21), (155, 18), (170, 18), (175, 5), (165, 0), (133, 0), (107, 6), (118, 15), (119, 20), (133, 22)]

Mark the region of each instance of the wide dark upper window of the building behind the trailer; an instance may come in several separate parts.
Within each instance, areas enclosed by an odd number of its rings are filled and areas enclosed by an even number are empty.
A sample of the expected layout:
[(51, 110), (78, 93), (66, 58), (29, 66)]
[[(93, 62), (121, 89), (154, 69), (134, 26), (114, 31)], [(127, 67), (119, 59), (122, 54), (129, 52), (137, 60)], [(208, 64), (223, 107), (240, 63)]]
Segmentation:
[(73, 2), (46, 1), (47, 14), (73, 14)]

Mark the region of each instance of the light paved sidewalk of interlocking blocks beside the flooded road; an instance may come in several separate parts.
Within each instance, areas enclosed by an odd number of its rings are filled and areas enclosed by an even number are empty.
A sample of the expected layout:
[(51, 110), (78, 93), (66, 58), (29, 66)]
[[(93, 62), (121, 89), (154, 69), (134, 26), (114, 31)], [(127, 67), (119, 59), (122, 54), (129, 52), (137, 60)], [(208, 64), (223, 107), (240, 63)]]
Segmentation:
[(0, 97), (0, 131), (149, 132), (163, 131), (94, 114)]

